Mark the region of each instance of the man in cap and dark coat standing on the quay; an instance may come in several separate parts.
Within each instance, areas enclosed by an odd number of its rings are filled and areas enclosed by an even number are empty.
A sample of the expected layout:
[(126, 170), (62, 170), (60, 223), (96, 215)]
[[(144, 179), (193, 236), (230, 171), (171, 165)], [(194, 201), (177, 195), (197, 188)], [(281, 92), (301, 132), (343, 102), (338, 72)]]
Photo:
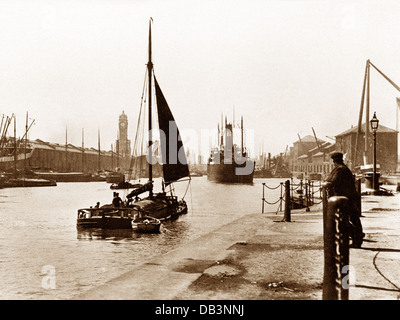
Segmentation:
[(345, 196), (349, 199), (349, 222), (352, 246), (360, 248), (365, 234), (362, 231), (358, 208), (358, 194), (356, 191), (354, 176), (351, 170), (343, 163), (343, 154), (335, 152), (331, 156), (334, 168), (326, 179), (332, 188), (328, 196)]

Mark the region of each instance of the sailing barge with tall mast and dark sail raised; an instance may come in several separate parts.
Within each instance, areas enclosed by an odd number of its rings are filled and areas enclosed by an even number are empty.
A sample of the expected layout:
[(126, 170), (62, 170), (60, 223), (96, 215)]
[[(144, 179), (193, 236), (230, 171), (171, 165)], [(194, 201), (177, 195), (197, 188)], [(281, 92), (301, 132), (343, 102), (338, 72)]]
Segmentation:
[[(149, 60), (147, 63), (147, 123), (148, 123), (148, 181), (144, 184), (137, 185), (126, 197), (126, 201), (124, 206), (121, 208), (113, 208), (114, 211), (111, 214), (106, 215), (104, 219), (108, 219), (112, 225), (114, 226), (116, 223), (116, 217), (120, 217), (120, 226), (121, 228), (132, 228), (135, 225), (135, 219), (137, 217), (150, 217), (155, 218), (160, 221), (165, 220), (173, 220), (179, 217), (179, 215), (187, 213), (187, 204), (186, 201), (182, 199), (178, 199), (178, 196), (173, 194), (173, 188), (169, 188), (169, 191), (166, 191), (166, 187), (170, 186), (174, 182), (178, 182), (178, 180), (182, 181), (182, 178), (188, 178), (187, 181), (190, 182), (189, 175), (189, 167), (186, 160), (186, 154), (183, 147), (182, 139), (178, 130), (178, 126), (176, 125), (174, 116), (168, 106), (167, 100), (165, 99), (164, 94), (161, 91), (161, 88), (158, 84), (158, 81), (154, 75), (153, 70), (153, 62), (152, 62), (152, 45), (151, 45), (151, 22), (149, 22)], [(154, 181), (153, 181), (153, 137), (152, 131), (156, 129), (153, 127), (152, 123), (152, 88), (153, 88), (153, 79), (154, 79), (154, 87), (155, 87), (155, 96), (156, 96), (156, 111), (158, 116), (158, 129), (165, 139), (160, 139), (160, 148), (161, 148), (161, 162), (162, 162), (162, 190), (160, 192), (154, 192)], [(146, 81), (145, 81), (146, 85)], [(146, 90), (143, 90), (146, 92)], [(142, 100), (143, 102), (143, 100)], [(140, 107), (140, 116), (138, 121), (141, 122), (144, 117), (141, 116), (141, 113), (144, 112), (142, 106)], [(140, 127), (140, 123), (138, 124), (138, 128)], [(138, 135), (142, 130), (137, 130), (136, 134)], [(142, 137), (145, 138), (145, 137)], [(140, 141), (141, 140), (141, 141)], [(143, 150), (143, 145), (145, 143), (144, 139), (135, 139), (137, 143), (142, 143), (142, 146), (138, 148), (135, 145), (135, 150), (140, 149)], [(147, 196), (141, 198), (143, 194), (147, 194)], [(110, 205), (107, 205), (110, 206)], [(78, 211), (79, 212), (79, 211)], [(82, 225), (78, 217), (78, 225)], [(87, 219), (85, 217), (85, 219)], [(100, 219), (95, 218), (94, 221), (100, 221)], [(154, 221), (154, 219), (151, 219)], [(89, 226), (89, 221), (86, 221), (86, 226)], [(96, 227), (105, 227), (107, 228), (111, 224), (107, 223), (94, 223), (93, 226)]]

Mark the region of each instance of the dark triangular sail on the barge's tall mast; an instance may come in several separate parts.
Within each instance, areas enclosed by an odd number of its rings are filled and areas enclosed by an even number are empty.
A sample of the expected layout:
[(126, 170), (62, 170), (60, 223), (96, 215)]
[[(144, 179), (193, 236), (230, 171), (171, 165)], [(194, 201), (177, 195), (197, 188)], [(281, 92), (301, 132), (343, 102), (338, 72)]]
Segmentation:
[(157, 98), (158, 123), (161, 131), (161, 154), (164, 182), (168, 185), (180, 178), (188, 177), (189, 167), (174, 116), (168, 107), (168, 103), (165, 100), (155, 77), (154, 80)]

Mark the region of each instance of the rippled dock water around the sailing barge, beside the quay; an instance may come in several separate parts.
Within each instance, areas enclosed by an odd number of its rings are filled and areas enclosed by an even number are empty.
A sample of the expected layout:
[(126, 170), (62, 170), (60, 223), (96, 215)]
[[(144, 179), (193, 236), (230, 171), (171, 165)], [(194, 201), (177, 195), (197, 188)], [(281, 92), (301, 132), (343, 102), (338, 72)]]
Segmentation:
[[(76, 228), (77, 209), (110, 203), (104, 182), (0, 190), (0, 299), (68, 299), (149, 259), (183, 246), (246, 213), (261, 212), (262, 185), (220, 185), (193, 178), (189, 212), (165, 222), (160, 234)], [(272, 181), (271, 185), (276, 184)], [(29, 190), (28, 190), (29, 189)], [(175, 185), (178, 196), (186, 184)], [(276, 191), (279, 197), (279, 190)], [(273, 195), (270, 195), (273, 198)], [(4, 201), (4, 202), (2, 202)], [(276, 206), (271, 207), (276, 211)], [(54, 267), (56, 289), (44, 289)], [(48, 271), (49, 272), (49, 271)]]

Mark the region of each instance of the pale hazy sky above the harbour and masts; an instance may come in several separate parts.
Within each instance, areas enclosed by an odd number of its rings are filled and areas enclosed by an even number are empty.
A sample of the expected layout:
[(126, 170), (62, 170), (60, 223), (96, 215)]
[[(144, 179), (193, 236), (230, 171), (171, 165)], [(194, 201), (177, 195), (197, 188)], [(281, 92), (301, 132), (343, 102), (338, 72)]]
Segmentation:
[[(252, 155), (313, 129), (333, 142), (358, 123), (367, 59), (400, 85), (399, 12), (398, 1), (1, 0), (0, 116), (14, 113), (22, 136), (28, 113), (33, 140), (64, 144), (67, 132), (80, 146), (84, 130), (97, 148), (100, 132), (110, 150), (124, 111), (133, 141), (152, 17), (154, 71), (189, 149), (207, 156), (221, 115), (243, 116)], [(400, 93), (370, 77), (369, 118), (396, 129)]]

